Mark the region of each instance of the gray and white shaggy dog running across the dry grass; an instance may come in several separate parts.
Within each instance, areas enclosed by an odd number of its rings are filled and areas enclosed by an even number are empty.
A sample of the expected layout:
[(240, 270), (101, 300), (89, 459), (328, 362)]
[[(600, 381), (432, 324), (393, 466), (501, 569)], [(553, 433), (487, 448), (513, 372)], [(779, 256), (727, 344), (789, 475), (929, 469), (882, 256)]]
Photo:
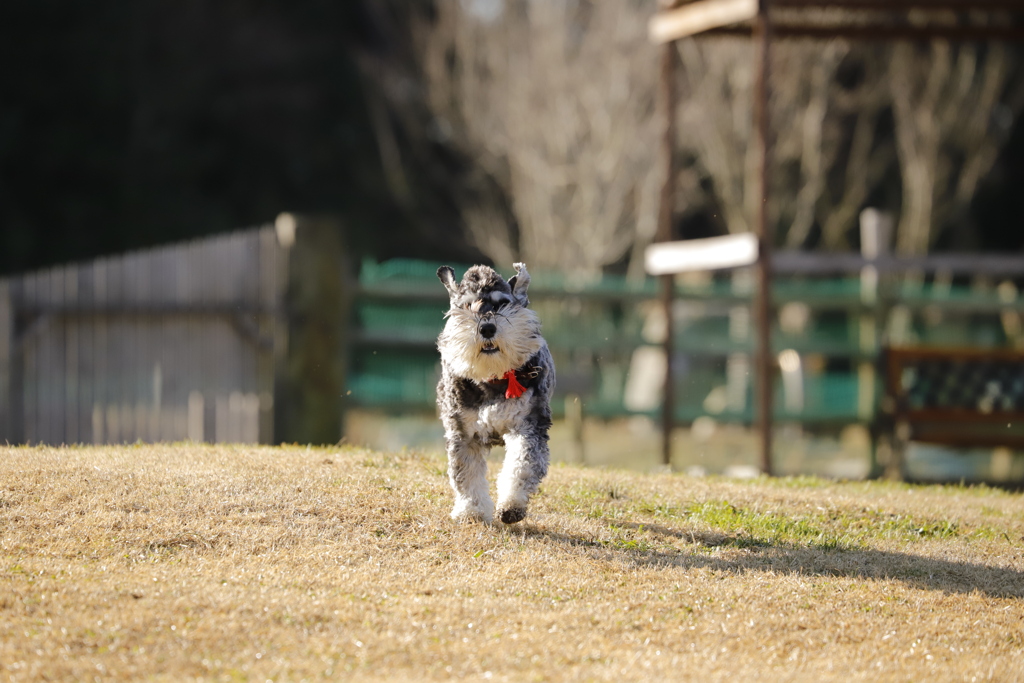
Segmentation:
[(437, 407), (455, 490), (452, 518), (459, 521), (494, 519), (485, 461), (492, 445), (505, 444), (498, 515), (506, 524), (526, 516), (529, 497), (548, 473), (555, 365), (541, 321), (527, 308), (529, 273), (522, 263), (514, 266), (507, 283), (485, 265), (467, 270), (461, 284), (451, 267), (437, 269), (451, 298), (437, 338)]

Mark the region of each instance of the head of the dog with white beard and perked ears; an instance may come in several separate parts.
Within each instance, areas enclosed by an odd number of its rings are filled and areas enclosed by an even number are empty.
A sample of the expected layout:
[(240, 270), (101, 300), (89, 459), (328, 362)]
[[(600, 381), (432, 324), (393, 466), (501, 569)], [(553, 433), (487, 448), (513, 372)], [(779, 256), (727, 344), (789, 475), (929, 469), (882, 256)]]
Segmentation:
[(515, 269), (516, 274), (505, 282), (494, 268), (474, 265), (461, 284), (449, 266), (437, 269), (451, 304), (437, 348), (460, 377), (477, 382), (501, 377), (544, 345), (541, 322), (526, 307), (529, 273), (522, 263)]

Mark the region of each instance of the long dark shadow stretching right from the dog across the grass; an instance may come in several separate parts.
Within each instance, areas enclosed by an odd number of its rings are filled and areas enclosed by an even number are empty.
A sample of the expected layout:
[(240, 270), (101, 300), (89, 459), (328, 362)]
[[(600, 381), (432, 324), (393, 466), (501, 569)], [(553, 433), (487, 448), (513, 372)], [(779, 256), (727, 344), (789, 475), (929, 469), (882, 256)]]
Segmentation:
[[(666, 552), (616, 546), (593, 538), (573, 536), (546, 528), (527, 526), (527, 537), (548, 539), (570, 546), (593, 548), (602, 554), (632, 564), (654, 568), (707, 568), (731, 573), (774, 571), (807, 577), (844, 577), (863, 580), (899, 581), (908, 586), (946, 593), (978, 591), (991, 597), (1024, 597), (1024, 572), (1005, 567), (955, 562), (894, 553), (870, 548), (822, 549), (794, 543), (749, 543), (740, 536), (717, 531), (676, 528), (659, 524), (616, 522), (620, 528), (640, 529), (654, 537), (683, 541), (688, 549)], [(728, 557), (707, 554), (713, 548), (734, 548)]]

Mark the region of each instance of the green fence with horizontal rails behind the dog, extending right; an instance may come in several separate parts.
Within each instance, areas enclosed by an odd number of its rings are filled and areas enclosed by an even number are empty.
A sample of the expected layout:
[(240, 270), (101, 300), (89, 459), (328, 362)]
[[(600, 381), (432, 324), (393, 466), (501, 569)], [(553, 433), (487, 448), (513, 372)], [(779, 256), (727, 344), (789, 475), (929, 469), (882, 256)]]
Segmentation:
[[(447, 308), (435, 275), (437, 265), (406, 259), (362, 263), (347, 384), (351, 404), (392, 412), (434, 410), (439, 374), (435, 340)], [(461, 276), (467, 266), (455, 267)], [(753, 321), (748, 318), (745, 334), (742, 330), (750, 293), (736, 288), (727, 274), (718, 274), (698, 285), (679, 285), (677, 296), (677, 420), (688, 423), (709, 415), (750, 423), (750, 381), (734, 381), (731, 390), (735, 393), (738, 387), (738, 397), (733, 395), (724, 405), (720, 400), (723, 387), (730, 390), (730, 364), (742, 369), (743, 356), (754, 350)], [(585, 413), (592, 416), (657, 414), (654, 405), (638, 410), (627, 399), (630, 382), (637, 381), (631, 377), (637, 349), (656, 346), (656, 339), (644, 333), (656, 316), (653, 280), (633, 283), (604, 276), (577, 283), (539, 272), (532, 276), (530, 300), (558, 368), (557, 395), (579, 395)], [(905, 334), (910, 341), (926, 345), (1010, 345), (1014, 340), (1008, 330), (1013, 326), (1006, 316), (1024, 312), (1022, 300), (1008, 299), (1005, 289), (966, 285), (890, 284), (881, 290), (879, 304), (869, 304), (862, 301), (860, 281), (854, 278), (780, 278), (773, 301), (773, 351), (792, 349), (801, 360), (802, 400), (795, 404), (787, 395), (794, 387), (776, 377), (776, 415), (808, 424), (873, 417), (881, 382), (865, 380), (864, 373), (866, 368), (874, 377), (870, 371), (886, 339), (882, 321), (894, 306), (908, 311)], [(801, 323), (796, 329), (785, 319), (792, 313)], [(752, 371), (753, 365), (749, 368)], [(650, 384), (648, 394), (657, 391)], [(561, 403), (556, 400), (554, 408), (558, 414)]]

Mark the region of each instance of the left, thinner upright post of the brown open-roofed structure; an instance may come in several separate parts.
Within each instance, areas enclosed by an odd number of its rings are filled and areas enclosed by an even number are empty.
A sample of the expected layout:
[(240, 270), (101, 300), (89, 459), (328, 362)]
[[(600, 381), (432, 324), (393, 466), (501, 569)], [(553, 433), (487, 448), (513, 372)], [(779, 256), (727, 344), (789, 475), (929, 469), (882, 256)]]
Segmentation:
[[(662, 103), (662, 195), (657, 214), (657, 242), (672, 240), (672, 211), (675, 207), (675, 144), (676, 144), (676, 43), (662, 46), (662, 69), (658, 83)], [(665, 310), (665, 392), (662, 401), (662, 462), (672, 465), (672, 428), (675, 424), (675, 391), (673, 389), (673, 275), (660, 276), (660, 300)]]

